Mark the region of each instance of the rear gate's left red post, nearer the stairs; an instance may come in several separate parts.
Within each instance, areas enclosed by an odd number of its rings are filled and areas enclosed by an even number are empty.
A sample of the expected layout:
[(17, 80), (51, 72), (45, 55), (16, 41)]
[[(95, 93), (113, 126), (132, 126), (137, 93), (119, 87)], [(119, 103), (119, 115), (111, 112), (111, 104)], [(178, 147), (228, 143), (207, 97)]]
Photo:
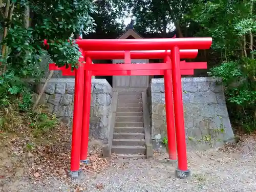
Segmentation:
[[(86, 57), (86, 66), (92, 64), (92, 59)], [(82, 134), (81, 134), (81, 156), (80, 160), (88, 164), (88, 143), (90, 130), (90, 106), (91, 106), (91, 84), (92, 72), (84, 71), (84, 92), (83, 92), (83, 116), (82, 116)]]

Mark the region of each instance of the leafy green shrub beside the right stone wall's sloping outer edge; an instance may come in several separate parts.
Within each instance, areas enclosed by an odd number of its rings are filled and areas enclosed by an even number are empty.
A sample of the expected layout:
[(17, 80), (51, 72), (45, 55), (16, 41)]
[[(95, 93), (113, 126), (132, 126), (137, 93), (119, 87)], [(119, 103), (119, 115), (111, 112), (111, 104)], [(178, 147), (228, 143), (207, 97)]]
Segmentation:
[(246, 132), (256, 130), (256, 60), (242, 58), (212, 68), (209, 75), (222, 77), (229, 116)]

